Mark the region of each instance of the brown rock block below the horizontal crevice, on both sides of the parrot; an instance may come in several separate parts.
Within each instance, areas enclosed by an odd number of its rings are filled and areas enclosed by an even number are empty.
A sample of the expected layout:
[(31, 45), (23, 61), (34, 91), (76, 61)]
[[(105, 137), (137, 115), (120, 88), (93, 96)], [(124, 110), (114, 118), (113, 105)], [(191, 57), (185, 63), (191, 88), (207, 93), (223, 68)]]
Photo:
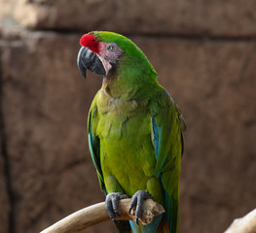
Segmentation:
[[(86, 133), (101, 78), (79, 74), (79, 37), (23, 32), (5, 34), (1, 44), (17, 233), (38, 232), (104, 199)], [(255, 206), (256, 43), (131, 39), (187, 120), (180, 232), (222, 232)], [(90, 232), (114, 232), (101, 227)]]

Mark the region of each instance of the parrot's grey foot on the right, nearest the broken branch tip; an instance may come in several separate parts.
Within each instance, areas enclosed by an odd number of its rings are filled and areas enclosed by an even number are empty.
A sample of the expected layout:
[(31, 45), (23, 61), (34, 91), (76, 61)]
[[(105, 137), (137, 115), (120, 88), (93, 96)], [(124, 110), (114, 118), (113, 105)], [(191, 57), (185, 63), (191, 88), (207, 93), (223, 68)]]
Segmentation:
[(136, 206), (135, 218), (136, 218), (137, 225), (138, 225), (138, 218), (141, 217), (141, 214), (142, 214), (143, 202), (146, 199), (152, 199), (152, 197), (149, 193), (142, 190), (136, 191), (131, 197), (128, 214), (130, 214), (131, 209)]

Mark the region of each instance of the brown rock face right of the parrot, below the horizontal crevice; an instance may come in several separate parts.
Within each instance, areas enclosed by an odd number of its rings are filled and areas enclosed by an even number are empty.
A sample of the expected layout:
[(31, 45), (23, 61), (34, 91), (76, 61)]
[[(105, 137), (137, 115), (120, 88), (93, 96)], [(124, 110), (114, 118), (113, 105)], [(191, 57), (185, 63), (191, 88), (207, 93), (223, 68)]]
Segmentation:
[(146, 42), (188, 125), (180, 232), (223, 232), (255, 206), (256, 43)]

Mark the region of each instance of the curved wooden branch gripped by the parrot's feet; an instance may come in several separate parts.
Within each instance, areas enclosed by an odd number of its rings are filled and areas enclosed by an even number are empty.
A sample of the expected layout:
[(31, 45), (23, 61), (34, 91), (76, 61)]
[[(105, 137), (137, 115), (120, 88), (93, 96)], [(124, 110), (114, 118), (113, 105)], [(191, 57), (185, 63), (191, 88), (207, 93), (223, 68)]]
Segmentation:
[[(117, 216), (117, 220), (135, 220), (134, 209), (131, 211), (131, 215), (128, 214), (130, 201), (130, 198), (120, 200), (119, 213), (121, 216)], [(153, 221), (154, 216), (159, 216), (163, 213), (165, 213), (163, 206), (154, 202), (152, 199), (148, 199), (143, 204), (142, 216), (139, 219), (139, 223), (147, 225)], [(110, 220), (110, 218), (105, 210), (105, 203), (101, 202), (75, 212), (70, 216), (66, 216), (54, 225), (41, 231), (41, 233), (76, 233), (107, 220)]]

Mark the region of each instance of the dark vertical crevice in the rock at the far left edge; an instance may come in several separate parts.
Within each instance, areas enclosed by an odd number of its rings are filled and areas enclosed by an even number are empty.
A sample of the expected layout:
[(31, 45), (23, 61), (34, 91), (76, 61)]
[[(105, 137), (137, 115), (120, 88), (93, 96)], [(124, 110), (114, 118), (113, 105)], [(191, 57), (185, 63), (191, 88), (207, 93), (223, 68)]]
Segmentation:
[(5, 131), (5, 123), (3, 116), (3, 78), (2, 78), (2, 50), (0, 48), (0, 140), (1, 140), (1, 151), (0, 155), (3, 156), (4, 161), (4, 175), (6, 179), (6, 189), (9, 197), (10, 210), (8, 215), (9, 233), (15, 233), (15, 213), (14, 213), (14, 193), (12, 190), (12, 179), (10, 174), (10, 160), (7, 150), (7, 137)]

